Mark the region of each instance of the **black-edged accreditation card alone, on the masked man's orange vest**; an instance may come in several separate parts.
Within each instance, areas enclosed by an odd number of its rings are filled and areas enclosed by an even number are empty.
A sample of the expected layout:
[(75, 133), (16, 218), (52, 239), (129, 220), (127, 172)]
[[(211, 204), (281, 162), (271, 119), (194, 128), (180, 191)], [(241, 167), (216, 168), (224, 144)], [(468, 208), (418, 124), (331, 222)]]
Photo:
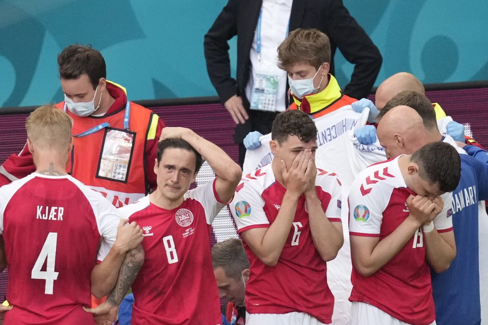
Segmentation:
[(127, 183), (136, 134), (107, 127), (97, 170), (97, 178)]

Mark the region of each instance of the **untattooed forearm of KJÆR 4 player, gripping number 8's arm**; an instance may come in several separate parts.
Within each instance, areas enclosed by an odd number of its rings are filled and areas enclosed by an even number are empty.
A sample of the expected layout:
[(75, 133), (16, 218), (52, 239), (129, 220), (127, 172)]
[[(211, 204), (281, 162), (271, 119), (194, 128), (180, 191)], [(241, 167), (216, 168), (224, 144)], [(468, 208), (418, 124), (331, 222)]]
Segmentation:
[(97, 298), (105, 297), (113, 289), (126, 251), (112, 246), (104, 260), (97, 264), (90, 276), (90, 291)]

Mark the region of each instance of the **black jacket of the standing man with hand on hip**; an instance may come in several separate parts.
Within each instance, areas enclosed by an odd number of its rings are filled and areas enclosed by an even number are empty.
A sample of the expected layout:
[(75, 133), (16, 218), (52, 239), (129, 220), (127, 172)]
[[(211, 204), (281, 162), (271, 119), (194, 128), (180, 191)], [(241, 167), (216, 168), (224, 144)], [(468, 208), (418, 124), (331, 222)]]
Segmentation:
[[(249, 109), (246, 99), (246, 85), (251, 72), (249, 52), (261, 5), (262, 0), (229, 0), (205, 35), (208, 75), (222, 103), (233, 95), (239, 95)], [(369, 95), (381, 68), (381, 54), (364, 29), (351, 17), (342, 0), (294, 1), (289, 30), (296, 28), (317, 28), (324, 32), (331, 45), (330, 73), (334, 75), (333, 57), (337, 47), (349, 62), (355, 64), (351, 82), (344, 93), (356, 99)], [(236, 35), (237, 80), (230, 74), (227, 43)]]

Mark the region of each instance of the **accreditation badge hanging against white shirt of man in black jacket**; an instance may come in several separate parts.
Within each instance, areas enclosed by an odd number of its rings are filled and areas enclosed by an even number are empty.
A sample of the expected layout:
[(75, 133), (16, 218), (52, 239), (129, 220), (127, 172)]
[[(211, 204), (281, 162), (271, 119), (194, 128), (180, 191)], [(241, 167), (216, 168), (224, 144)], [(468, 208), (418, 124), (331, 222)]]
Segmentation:
[(276, 111), (276, 95), (280, 77), (273, 74), (257, 73), (251, 94), (251, 109)]

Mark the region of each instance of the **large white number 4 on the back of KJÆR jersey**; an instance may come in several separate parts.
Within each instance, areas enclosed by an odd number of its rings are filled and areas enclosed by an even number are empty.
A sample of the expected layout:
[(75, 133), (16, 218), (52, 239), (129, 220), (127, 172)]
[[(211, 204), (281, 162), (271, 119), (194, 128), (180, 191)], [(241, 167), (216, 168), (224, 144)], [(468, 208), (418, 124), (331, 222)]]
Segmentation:
[[(44, 289), (45, 295), (52, 295), (54, 280), (57, 279), (59, 272), (54, 271), (54, 264), (56, 262), (56, 246), (57, 233), (49, 233), (46, 241), (42, 246), (41, 253), (37, 257), (36, 264), (32, 268), (31, 279), (46, 280), (46, 287)], [(46, 271), (41, 271), (44, 261), (46, 261)]]

